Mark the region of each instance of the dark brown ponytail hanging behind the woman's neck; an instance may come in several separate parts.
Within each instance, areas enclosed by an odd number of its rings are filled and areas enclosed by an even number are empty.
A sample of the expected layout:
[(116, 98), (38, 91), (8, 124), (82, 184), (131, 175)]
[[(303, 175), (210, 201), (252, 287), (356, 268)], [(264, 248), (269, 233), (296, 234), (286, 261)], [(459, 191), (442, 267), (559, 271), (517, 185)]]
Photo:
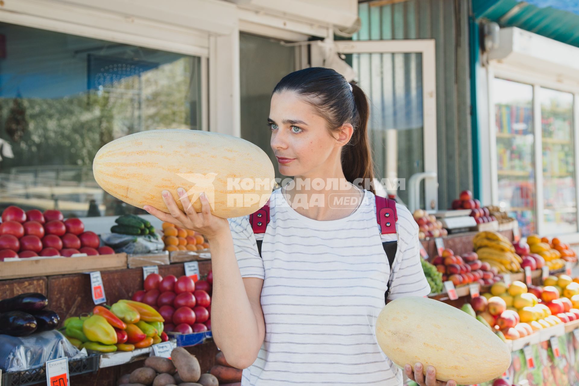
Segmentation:
[[(342, 170), (347, 181), (362, 178), (362, 189), (376, 193), (373, 185), (374, 165), (372, 162), (372, 150), (368, 139), (368, 116), (370, 106), (364, 91), (356, 84), (351, 84), (354, 94), (355, 112), (352, 119), (354, 134), (347, 146), (342, 149)], [(360, 181), (360, 180), (358, 180)], [(360, 185), (360, 183), (356, 183)]]

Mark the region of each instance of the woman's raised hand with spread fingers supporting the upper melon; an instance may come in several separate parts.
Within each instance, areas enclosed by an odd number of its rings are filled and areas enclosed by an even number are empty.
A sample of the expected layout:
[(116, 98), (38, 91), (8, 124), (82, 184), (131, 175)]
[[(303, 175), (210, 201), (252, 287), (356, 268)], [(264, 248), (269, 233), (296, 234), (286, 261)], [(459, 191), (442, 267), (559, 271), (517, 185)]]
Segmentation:
[(206, 236), (210, 241), (211, 239), (229, 232), (228, 220), (217, 217), (211, 213), (209, 201), (204, 192), (201, 193), (199, 197), (201, 200), (201, 213), (195, 212), (185, 189), (177, 189), (177, 194), (180, 197), (179, 200), (181, 201), (183, 208), (185, 208), (185, 212), (179, 209), (173, 196), (171, 196), (167, 190), (163, 190), (162, 197), (170, 214), (160, 211), (157, 208), (153, 208), (151, 205), (145, 205), (143, 209), (163, 222), (170, 222), (175, 226), (199, 232)]

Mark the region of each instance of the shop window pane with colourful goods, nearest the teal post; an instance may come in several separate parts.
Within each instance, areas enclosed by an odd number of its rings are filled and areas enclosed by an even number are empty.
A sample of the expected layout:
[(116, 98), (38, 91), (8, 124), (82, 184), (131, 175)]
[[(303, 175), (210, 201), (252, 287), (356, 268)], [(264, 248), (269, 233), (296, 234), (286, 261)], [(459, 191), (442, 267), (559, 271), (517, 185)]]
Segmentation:
[(494, 79), (493, 95), (499, 205), (526, 236), (536, 232), (533, 86)]

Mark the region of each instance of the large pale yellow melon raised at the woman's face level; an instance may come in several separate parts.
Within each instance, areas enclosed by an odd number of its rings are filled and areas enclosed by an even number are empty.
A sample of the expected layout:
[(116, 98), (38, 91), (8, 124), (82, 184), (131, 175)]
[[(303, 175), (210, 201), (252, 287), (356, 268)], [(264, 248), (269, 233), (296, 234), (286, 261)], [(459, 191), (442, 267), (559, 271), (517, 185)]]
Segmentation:
[(201, 212), (199, 194), (205, 192), (211, 212), (222, 218), (261, 208), (272, 194), (275, 177), (269, 157), (251, 142), (179, 129), (142, 131), (109, 142), (94, 157), (93, 173), (112, 196), (167, 213), (164, 189), (183, 209), (177, 188), (184, 188), (196, 212)]

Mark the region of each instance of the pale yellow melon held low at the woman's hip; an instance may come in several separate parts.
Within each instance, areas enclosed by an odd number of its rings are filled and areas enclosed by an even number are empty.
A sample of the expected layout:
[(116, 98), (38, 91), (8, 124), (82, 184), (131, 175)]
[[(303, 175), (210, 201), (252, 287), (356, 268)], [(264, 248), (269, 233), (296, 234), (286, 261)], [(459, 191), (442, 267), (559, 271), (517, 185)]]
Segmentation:
[(507, 345), (488, 327), (458, 308), (424, 297), (388, 303), (378, 315), (376, 338), (398, 366), (434, 366), (437, 379), (459, 385), (501, 376), (511, 365)]

